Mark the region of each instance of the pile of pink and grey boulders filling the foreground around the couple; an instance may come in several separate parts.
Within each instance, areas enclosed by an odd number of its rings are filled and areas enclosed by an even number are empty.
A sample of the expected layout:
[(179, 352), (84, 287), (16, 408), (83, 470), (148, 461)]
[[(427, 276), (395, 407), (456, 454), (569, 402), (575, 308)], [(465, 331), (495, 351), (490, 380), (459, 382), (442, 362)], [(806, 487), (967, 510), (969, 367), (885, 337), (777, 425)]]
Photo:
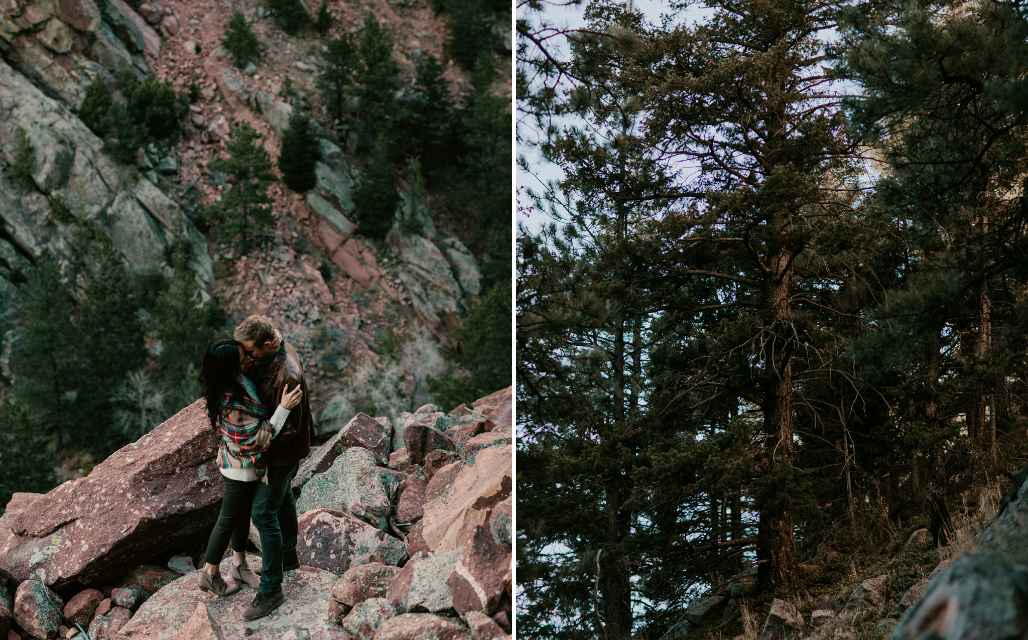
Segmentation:
[(302, 566), (286, 574), (286, 604), (251, 623), (238, 619), (250, 588), (197, 591), (201, 555), (183, 553), (210, 534), (224, 490), (203, 401), (85, 478), (14, 494), (0, 518), (0, 635), (509, 637), (511, 388), (437, 409), (358, 414), (311, 451), (293, 482)]

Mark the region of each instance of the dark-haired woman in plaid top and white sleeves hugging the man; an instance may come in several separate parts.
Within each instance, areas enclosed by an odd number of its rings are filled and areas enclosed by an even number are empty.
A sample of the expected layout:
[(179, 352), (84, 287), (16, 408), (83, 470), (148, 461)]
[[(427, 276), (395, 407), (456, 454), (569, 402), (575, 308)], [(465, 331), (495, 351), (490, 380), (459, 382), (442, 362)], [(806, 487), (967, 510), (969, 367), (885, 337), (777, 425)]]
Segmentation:
[[(257, 482), (264, 477), (261, 452), (286, 423), (289, 410), (300, 402), (303, 391), (297, 386), (284, 389), (282, 403), (270, 419), (257, 399), (257, 388), (243, 372), (247, 357), (243, 345), (235, 340), (215, 340), (204, 354), (200, 384), (207, 399), (207, 415), (211, 427), (221, 431), (218, 448), (218, 469), (225, 481), (225, 496), (221, 515), (207, 543), (204, 572), (196, 587), (219, 596), (234, 594), (242, 582), (257, 589), (260, 578), (247, 566), (247, 538), (250, 534), (250, 507)], [(265, 482), (266, 479), (265, 479)], [(218, 568), (225, 549), (232, 545), (232, 569), (229, 577), (235, 582), (229, 588)]]

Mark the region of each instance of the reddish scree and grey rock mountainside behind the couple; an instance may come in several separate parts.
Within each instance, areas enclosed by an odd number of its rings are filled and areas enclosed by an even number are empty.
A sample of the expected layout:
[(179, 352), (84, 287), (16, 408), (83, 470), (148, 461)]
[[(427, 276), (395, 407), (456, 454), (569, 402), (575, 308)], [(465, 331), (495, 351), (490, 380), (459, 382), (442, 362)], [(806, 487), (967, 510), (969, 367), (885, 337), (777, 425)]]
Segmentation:
[[(397, 225), (377, 247), (354, 237), (353, 193), (360, 171), (347, 153), (355, 141), (317, 119), (322, 155), (317, 186), (305, 194), (280, 183), (270, 187), (277, 225), (269, 243), (247, 256), (209, 243), (193, 216), (225, 187), (224, 178), (208, 164), (223, 153), (231, 125), (250, 122), (264, 135), (262, 144), (274, 158), (294, 107), (317, 103), (313, 40), (278, 31), (261, 7), (241, 8), (264, 53), (245, 71), (232, 67), (219, 39), (234, 8), (199, 0), (144, 3), (138, 11), (122, 0), (0, 5), (0, 164), (13, 162), (24, 130), (35, 149), (36, 187), (22, 195), (0, 171), (0, 370), (9, 378), (16, 323), (11, 273), (44, 250), (66, 263), (72, 257), (74, 223), (50, 215), (48, 197), (57, 197), (105, 228), (136, 271), (163, 268), (169, 244), (185, 237), (197, 278), (230, 317), (262, 312), (281, 325), (309, 365), (311, 402), (328, 432), (345, 422), (354, 404), (352, 392), (339, 397), (333, 379), (379, 367), (375, 345), (388, 330), (453, 346), (460, 313), (481, 290), (481, 257), (437, 229), (427, 203), (405, 193), (399, 209), (404, 217), (419, 219), (420, 233)], [(318, 9), (307, 8), (313, 14)], [(445, 34), (427, 5), (336, 1), (329, 8), (336, 34), (359, 30), (364, 12), (375, 12), (397, 42), (394, 57), (411, 76), (420, 57), (443, 55)], [(149, 145), (137, 166), (117, 165), (101, 154), (102, 141), (75, 115), (95, 77), (113, 87), (123, 69), (140, 77), (153, 72), (178, 91), (192, 82), (200, 86), (200, 100), (192, 105), (176, 146)], [(296, 91), (292, 98), (282, 88), (287, 75)], [(465, 82), (464, 75), (455, 65), (446, 69), (454, 88)], [(509, 77), (500, 81), (509, 82)], [(334, 277), (326, 280), (326, 275)], [(426, 350), (425, 340), (418, 348)], [(407, 410), (430, 400), (425, 377), (442, 367), (435, 347), (430, 350), (425, 357), (401, 359), (427, 364), (401, 367), (394, 376)]]

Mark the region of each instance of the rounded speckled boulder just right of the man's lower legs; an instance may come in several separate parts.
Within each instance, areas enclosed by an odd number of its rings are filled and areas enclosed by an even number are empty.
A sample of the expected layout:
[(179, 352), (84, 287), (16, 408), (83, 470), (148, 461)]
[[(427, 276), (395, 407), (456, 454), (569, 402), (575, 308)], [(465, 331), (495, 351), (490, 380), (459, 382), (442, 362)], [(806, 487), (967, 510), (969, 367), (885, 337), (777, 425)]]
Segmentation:
[(351, 567), (371, 562), (372, 556), (397, 565), (406, 559), (407, 551), (399, 538), (350, 514), (316, 509), (300, 516), (296, 555), (303, 565), (342, 575)]

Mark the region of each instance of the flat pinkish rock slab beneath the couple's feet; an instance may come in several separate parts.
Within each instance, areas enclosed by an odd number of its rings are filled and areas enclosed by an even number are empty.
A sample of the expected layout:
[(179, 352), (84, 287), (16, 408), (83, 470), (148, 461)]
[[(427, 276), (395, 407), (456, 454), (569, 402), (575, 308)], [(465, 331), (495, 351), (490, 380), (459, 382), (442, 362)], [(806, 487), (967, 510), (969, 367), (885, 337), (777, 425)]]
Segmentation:
[[(230, 564), (231, 559), (222, 561), (222, 575), (228, 575)], [(246, 637), (247, 629), (253, 630), (253, 638), (268, 639), (285, 638), (293, 629), (306, 629), (311, 638), (341, 635), (341, 630), (328, 615), (329, 592), (336, 580), (334, 573), (307, 566), (286, 571), (282, 582), (286, 602), (267, 617), (249, 623), (241, 620), (240, 615), (253, 600), (256, 593), (253, 589), (244, 586), (235, 594), (219, 598), (196, 589), (198, 574), (198, 570), (190, 571), (151, 596), (118, 637), (170, 640), (189, 623), (199, 603), (207, 605), (211, 619), (217, 623), (225, 637)]]

